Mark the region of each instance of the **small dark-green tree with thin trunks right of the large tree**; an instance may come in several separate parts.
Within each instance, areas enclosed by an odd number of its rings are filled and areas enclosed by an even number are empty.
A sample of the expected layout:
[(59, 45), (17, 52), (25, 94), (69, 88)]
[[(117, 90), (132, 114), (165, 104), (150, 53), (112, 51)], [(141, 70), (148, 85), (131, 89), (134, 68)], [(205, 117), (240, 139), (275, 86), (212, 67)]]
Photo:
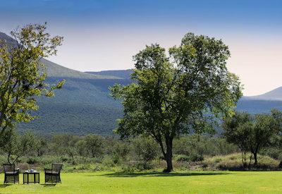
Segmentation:
[(251, 152), (257, 165), (257, 153), (262, 147), (271, 143), (271, 139), (278, 135), (281, 130), (281, 123), (277, 120), (276, 114), (250, 114), (236, 113), (231, 119), (223, 122), (223, 135), (230, 143), (238, 145), (242, 152), (242, 161), (246, 167), (246, 153)]

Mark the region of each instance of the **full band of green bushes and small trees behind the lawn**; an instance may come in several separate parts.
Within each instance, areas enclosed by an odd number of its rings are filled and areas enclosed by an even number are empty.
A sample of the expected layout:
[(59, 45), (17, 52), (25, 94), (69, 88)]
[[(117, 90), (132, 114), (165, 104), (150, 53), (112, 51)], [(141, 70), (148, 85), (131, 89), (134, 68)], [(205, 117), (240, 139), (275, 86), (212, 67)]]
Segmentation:
[[(258, 164), (258, 154), (282, 161), (281, 126), (282, 112), (275, 109), (270, 114), (236, 112), (233, 117), (223, 121), (221, 134), (194, 133), (176, 138), (173, 141), (173, 162), (192, 164), (203, 162), (207, 157), (224, 157), (241, 152), (242, 167), (236, 164), (224, 169), (259, 169), (264, 164)], [(124, 139), (68, 133), (44, 136), (32, 131), (20, 134), (10, 128), (3, 137), (0, 142), (2, 163), (45, 166), (59, 162), (73, 168), (82, 164), (84, 167), (81, 169), (89, 169), (89, 166), (85, 167), (86, 164), (101, 164), (99, 166), (106, 166), (107, 169), (119, 166), (122, 169), (139, 170), (162, 168), (164, 165), (161, 164), (165, 163), (157, 142), (142, 135)], [(277, 168), (281, 166), (277, 164)]]

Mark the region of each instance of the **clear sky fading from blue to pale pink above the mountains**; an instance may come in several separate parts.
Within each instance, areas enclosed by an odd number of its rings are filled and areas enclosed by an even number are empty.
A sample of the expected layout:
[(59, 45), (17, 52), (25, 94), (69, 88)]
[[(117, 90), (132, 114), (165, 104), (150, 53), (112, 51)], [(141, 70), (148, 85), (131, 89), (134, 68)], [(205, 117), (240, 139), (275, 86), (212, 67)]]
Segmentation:
[(49, 60), (78, 71), (133, 68), (146, 44), (168, 49), (194, 32), (228, 45), (244, 95), (282, 86), (280, 0), (0, 0), (0, 32), (44, 22), (64, 37)]

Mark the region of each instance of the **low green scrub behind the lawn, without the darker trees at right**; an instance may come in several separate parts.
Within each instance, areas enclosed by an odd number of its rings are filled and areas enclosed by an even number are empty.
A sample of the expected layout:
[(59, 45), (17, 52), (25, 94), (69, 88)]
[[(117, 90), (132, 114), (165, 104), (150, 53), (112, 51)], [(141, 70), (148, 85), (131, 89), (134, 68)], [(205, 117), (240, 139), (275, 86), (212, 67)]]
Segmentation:
[[(118, 168), (124, 171), (160, 169), (165, 166), (159, 146), (147, 137), (121, 140), (94, 134), (56, 134), (44, 137), (32, 131), (19, 134), (11, 130), (9, 133), (11, 138), (1, 143), (2, 163), (28, 164), (43, 168), (58, 162), (63, 163), (67, 169)], [(208, 157), (236, 152), (240, 152), (240, 147), (228, 143), (223, 137), (182, 135), (173, 143), (173, 161), (176, 166), (189, 166), (194, 163), (204, 165), (203, 161)], [(282, 159), (282, 153), (276, 146), (264, 147), (259, 153)]]

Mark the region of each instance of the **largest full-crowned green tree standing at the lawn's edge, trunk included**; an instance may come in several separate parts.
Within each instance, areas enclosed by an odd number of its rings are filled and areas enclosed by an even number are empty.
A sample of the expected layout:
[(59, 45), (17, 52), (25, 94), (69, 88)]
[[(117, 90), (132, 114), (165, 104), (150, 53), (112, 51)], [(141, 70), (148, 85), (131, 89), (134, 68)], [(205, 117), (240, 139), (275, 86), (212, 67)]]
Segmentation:
[(218, 119), (233, 114), (242, 95), (238, 77), (228, 72), (228, 47), (221, 40), (188, 33), (168, 51), (152, 44), (133, 58), (134, 82), (114, 85), (111, 95), (122, 99), (123, 119), (117, 133), (150, 135), (173, 170), (173, 138), (190, 131), (207, 132)]

